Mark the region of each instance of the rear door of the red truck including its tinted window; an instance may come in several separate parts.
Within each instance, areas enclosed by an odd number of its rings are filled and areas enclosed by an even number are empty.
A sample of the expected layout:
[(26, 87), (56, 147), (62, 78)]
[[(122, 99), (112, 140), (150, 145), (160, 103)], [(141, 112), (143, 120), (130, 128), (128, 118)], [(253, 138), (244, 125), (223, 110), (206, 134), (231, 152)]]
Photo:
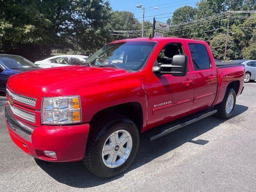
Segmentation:
[(188, 48), (194, 66), (194, 103), (192, 109), (204, 109), (212, 105), (217, 90), (217, 72), (204, 44), (189, 43)]

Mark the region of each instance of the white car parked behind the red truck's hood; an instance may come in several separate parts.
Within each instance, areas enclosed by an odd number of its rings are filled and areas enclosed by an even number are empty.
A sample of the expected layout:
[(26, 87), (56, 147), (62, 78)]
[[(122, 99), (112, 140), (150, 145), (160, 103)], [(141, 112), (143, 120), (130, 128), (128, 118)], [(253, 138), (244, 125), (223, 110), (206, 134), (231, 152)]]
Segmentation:
[(41, 61), (36, 61), (35, 64), (41, 68), (62, 67), (68, 65), (81, 65), (88, 59), (84, 55), (57, 55)]

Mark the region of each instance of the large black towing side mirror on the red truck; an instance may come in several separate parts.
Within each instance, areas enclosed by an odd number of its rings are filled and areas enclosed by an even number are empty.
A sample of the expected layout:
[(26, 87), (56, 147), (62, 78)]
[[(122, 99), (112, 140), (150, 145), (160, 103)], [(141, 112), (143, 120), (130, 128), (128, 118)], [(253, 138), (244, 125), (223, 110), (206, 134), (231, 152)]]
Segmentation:
[(158, 63), (153, 67), (154, 73), (172, 74), (172, 76), (186, 76), (188, 72), (188, 57), (186, 55), (174, 55), (172, 64)]

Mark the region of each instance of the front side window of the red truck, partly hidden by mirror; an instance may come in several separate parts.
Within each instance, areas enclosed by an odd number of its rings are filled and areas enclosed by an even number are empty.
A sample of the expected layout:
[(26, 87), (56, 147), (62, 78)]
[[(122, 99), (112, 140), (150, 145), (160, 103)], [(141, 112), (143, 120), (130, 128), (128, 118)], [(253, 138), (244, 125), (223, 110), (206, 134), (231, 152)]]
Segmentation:
[(168, 44), (160, 51), (154, 66), (157, 66), (158, 63), (171, 64), (173, 56), (180, 54), (183, 54), (182, 46), (180, 44)]

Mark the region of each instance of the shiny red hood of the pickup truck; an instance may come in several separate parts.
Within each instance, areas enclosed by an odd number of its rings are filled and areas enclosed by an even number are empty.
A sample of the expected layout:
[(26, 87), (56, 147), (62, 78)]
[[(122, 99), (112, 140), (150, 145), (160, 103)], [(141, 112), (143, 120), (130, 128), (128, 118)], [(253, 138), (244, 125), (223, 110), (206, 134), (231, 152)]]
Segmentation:
[[(116, 68), (100, 68), (87, 66), (67, 66), (40, 69), (11, 76), (7, 86), (18, 92), (34, 96), (55, 96), (61, 89), (86, 88), (86, 84), (96, 84), (106, 78), (128, 73)], [(76, 92), (76, 91), (75, 91)], [(54, 94), (55, 93), (55, 94)]]

